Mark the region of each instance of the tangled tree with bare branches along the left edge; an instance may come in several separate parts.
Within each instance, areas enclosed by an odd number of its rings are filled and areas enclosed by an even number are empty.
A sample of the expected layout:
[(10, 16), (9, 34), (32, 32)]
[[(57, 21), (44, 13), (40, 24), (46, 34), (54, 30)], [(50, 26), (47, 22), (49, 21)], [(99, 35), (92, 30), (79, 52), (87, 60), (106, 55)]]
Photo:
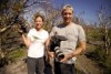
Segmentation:
[(21, 25), (20, 14), (27, 0), (0, 1), (0, 65), (8, 61), (8, 53), (20, 45), (17, 27)]

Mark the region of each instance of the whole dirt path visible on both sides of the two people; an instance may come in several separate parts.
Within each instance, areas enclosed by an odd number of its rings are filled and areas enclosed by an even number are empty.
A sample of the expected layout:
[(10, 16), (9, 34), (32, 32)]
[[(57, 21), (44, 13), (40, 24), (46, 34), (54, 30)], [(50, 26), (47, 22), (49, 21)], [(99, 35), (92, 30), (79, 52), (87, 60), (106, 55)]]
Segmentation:
[[(23, 61), (24, 57), (19, 59), (17, 63), (9, 64), (4, 66), (0, 74), (28, 74), (27, 72), (27, 64)], [(79, 55), (75, 62), (75, 67), (83, 72), (78, 74), (102, 74), (100, 73), (97, 64), (89, 60), (85, 55)]]

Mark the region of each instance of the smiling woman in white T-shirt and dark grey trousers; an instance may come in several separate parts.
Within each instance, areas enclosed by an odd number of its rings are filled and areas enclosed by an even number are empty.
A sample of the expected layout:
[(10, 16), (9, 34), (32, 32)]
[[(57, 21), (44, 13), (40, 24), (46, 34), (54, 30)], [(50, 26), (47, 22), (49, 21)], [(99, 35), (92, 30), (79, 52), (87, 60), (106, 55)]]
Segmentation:
[(49, 34), (43, 30), (44, 18), (37, 14), (34, 18), (36, 28), (31, 29), (26, 36), (22, 34), (24, 44), (28, 47), (28, 74), (44, 74), (44, 47), (48, 44)]

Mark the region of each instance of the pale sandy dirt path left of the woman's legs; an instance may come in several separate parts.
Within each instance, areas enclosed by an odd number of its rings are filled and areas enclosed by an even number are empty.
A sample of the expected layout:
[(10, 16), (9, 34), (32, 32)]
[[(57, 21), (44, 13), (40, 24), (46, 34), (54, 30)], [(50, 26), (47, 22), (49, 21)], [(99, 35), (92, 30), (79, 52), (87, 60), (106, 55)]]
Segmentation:
[(0, 70), (0, 74), (28, 74), (27, 63), (24, 61), (26, 56), (19, 59), (16, 63), (6, 65)]

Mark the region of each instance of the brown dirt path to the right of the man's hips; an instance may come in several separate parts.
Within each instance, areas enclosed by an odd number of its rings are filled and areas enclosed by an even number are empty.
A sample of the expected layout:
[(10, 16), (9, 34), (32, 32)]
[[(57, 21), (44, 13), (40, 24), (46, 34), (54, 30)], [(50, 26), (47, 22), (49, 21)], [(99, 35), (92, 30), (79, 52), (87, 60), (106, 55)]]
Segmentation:
[(88, 59), (85, 55), (78, 56), (75, 67), (84, 74), (102, 74), (97, 66), (97, 63)]

